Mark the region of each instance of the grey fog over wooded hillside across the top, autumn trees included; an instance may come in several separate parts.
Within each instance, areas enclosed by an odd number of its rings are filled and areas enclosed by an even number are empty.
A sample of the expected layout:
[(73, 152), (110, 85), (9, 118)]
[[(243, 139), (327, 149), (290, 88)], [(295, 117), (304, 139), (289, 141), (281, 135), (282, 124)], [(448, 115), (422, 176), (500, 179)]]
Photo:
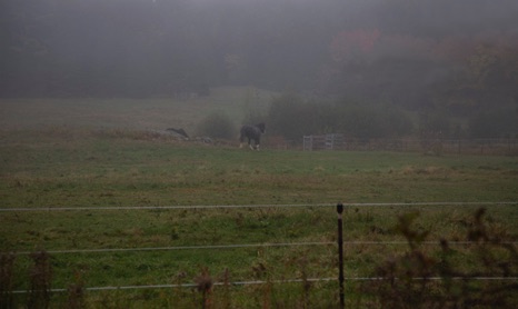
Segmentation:
[(0, 97), (252, 86), (512, 122), (517, 16), (516, 0), (6, 0)]

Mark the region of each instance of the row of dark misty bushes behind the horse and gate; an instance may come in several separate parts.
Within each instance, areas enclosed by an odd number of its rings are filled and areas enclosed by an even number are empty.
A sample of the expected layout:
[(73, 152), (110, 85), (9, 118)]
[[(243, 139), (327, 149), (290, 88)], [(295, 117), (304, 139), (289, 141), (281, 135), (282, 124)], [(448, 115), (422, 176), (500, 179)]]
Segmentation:
[[(458, 120), (445, 110), (409, 112), (390, 103), (350, 99), (305, 99), (286, 92), (272, 98), (266, 114), (249, 114), (243, 123), (268, 123), (268, 134), (299, 141), (302, 136), (343, 133), (357, 139), (516, 138), (518, 122), (512, 110), (480, 111)], [(464, 123), (465, 122), (465, 123)], [(213, 112), (199, 124), (199, 133), (235, 139), (237, 128), (230, 117)]]

